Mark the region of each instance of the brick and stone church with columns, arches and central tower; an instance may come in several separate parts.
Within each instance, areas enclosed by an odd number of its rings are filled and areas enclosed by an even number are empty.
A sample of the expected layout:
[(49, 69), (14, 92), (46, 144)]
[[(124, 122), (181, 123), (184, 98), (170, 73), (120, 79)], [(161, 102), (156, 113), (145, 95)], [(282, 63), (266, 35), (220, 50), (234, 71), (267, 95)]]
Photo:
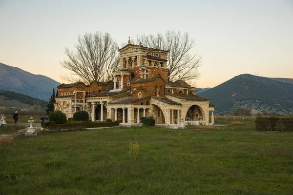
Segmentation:
[(71, 118), (84, 110), (92, 121), (111, 118), (122, 125), (138, 124), (140, 117), (149, 116), (164, 126), (213, 123), (209, 99), (195, 95), (195, 88), (183, 80), (169, 81), (168, 51), (130, 41), (118, 51), (120, 68), (114, 71), (113, 81), (59, 85), (55, 111)]

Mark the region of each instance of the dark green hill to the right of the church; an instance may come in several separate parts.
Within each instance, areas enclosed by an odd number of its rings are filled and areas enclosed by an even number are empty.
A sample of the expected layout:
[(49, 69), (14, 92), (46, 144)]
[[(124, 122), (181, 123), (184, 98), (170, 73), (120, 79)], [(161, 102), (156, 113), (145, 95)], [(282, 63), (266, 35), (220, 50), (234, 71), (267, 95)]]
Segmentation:
[(281, 78), (239, 75), (200, 93), (200, 96), (211, 99), (217, 115), (229, 115), (237, 107), (293, 114), (293, 84), (279, 80)]

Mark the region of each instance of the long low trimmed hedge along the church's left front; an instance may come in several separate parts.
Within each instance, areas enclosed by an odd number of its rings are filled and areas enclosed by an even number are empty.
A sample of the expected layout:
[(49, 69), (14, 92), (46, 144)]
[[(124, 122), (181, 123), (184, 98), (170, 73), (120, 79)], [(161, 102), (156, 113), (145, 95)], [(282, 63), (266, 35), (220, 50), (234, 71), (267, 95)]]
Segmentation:
[(81, 128), (95, 128), (95, 127), (117, 127), (119, 122), (79, 122), (79, 123), (65, 123), (56, 124), (54, 121), (50, 121), (45, 128), (47, 129), (70, 129), (75, 127)]

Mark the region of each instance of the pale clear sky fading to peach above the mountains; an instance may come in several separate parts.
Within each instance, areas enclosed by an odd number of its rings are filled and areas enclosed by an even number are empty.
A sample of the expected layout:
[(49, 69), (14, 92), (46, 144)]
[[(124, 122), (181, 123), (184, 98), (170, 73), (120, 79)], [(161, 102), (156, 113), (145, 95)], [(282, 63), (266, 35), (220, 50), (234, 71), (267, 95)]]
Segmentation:
[(0, 62), (58, 82), (79, 35), (188, 32), (202, 56), (196, 87), (240, 74), (293, 78), (293, 0), (0, 0)]

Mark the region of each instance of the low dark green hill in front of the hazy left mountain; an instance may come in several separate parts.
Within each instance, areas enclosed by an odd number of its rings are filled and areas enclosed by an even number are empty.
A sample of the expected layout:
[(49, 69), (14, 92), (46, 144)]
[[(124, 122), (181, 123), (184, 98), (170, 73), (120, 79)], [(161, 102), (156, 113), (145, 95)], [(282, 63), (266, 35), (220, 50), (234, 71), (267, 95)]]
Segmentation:
[(0, 90), (0, 106), (33, 109), (34, 104), (40, 105), (41, 108), (47, 106), (47, 102), (42, 99)]

